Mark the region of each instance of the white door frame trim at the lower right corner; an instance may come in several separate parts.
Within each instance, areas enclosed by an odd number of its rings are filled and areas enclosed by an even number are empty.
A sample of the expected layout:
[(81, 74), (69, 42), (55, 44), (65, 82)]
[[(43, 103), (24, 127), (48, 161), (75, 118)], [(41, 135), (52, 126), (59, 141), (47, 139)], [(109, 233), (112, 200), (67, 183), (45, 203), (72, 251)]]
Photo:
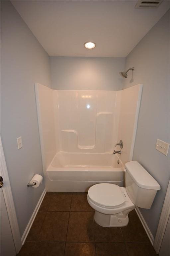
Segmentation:
[(166, 196), (165, 196), (164, 204), (162, 207), (162, 212), (159, 219), (159, 224), (158, 224), (155, 241), (154, 241), (154, 248), (157, 254), (159, 253), (161, 248), (161, 244), (165, 234), (166, 226), (168, 224), (169, 216), (170, 216), (170, 180), (169, 180), (168, 188), (166, 191)]

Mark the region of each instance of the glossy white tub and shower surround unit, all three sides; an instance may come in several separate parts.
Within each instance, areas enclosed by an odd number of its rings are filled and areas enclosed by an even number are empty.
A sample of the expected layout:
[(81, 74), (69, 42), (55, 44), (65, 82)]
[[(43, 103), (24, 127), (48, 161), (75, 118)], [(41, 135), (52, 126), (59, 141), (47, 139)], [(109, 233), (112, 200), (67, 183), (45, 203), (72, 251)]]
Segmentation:
[[(122, 91), (74, 91), (36, 83), (35, 91), (46, 190), (87, 191), (101, 182), (123, 186), (142, 85)], [(122, 154), (113, 155), (120, 139)]]

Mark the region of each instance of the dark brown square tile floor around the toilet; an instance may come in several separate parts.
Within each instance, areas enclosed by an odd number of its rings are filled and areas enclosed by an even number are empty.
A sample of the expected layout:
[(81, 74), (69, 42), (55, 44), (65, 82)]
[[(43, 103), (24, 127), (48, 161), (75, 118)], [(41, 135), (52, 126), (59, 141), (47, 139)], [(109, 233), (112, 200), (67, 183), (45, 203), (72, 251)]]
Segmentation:
[(155, 256), (135, 211), (126, 227), (94, 221), (86, 193), (47, 192), (18, 256)]

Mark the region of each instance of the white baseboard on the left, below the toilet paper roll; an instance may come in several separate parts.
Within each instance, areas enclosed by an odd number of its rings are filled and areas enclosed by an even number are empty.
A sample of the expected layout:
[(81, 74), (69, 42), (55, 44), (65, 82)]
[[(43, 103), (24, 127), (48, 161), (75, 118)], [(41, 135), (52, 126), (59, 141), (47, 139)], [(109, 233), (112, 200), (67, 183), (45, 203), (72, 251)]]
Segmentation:
[(43, 192), (42, 192), (42, 195), (41, 195), (41, 197), (40, 197), (40, 199), (39, 199), (39, 201), (38, 201), (38, 203), (37, 203), (37, 205), (36, 205), (36, 208), (35, 208), (35, 210), (34, 210), (32, 216), (31, 216), (31, 218), (30, 218), (30, 220), (29, 220), (29, 223), (28, 223), (28, 225), (27, 225), (27, 227), (26, 227), (26, 229), (25, 229), (25, 231), (24, 231), (24, 233), (23, 233), (23, 235), (22, 235), (22, 237), (21, 237), (22, 245), (25, 243), (25, 240), (26, 240), (26, 238), (27, 238), (27, 236), (28, 236), (28, 233), (29, 233), (29, 231), (30, 231), (30, 229), (31, 229), (31, 226), (33, 225), (33, 222), (34, 222), (34, 220), (35, 220), (35, 217), (36, 217), (36, 215), (37, 215), (37, 213), (38, 213), (38, 210), (39, 210), (39, 208), (40, 208), (40, 205), (41, 205), (41, 203), (42, 203), (42, 200), (43, 200), (45, 194), (46, 194), (46, 189), (44, 188), (44, 190), (43, 190)]

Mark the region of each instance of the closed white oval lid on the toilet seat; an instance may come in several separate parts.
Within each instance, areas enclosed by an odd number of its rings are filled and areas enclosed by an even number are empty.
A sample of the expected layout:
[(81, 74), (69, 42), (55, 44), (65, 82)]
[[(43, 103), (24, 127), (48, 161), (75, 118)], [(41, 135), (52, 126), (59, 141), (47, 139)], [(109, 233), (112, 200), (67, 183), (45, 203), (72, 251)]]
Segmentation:
[(96, 204), (107, 207), (119, 207), (125, 203), (120, 187), (110, 183), (100, 183), (88, 190), (88, 196)]

